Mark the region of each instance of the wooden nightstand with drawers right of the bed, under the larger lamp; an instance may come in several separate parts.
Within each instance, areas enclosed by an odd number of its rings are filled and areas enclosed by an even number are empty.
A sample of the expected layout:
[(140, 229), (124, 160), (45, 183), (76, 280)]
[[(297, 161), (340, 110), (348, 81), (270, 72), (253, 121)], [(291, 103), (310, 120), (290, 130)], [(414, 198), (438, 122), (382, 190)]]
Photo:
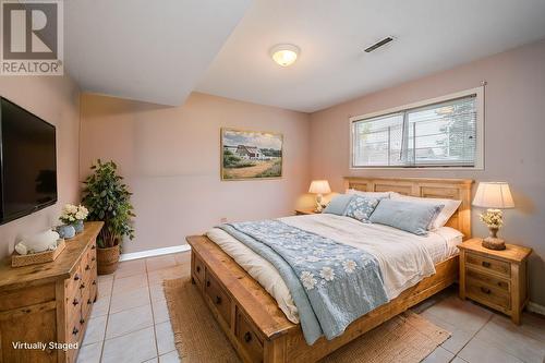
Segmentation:
[(528, 302), (526, 258), (532, 249), (506, 244), (506, 250), (488, 250), (482, 239), (471, 239), (460, 249), (460, 298), (472, 299), (511, 316), (520, 324)]

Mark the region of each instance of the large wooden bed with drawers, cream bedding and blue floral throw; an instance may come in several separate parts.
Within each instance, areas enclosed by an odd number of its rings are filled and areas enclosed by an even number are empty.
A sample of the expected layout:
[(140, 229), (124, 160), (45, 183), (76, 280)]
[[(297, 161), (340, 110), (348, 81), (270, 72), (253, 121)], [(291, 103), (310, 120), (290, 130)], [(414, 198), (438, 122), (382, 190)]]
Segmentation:
[(389, 193), (460, 203), (422, 235), (322, 214), (189, 237), (192, 280), (243, 361), (315, 362), (458, 278), (456, 245), (471, 238), (471, 180), (344, 183), (378, 198), (374, 207)]

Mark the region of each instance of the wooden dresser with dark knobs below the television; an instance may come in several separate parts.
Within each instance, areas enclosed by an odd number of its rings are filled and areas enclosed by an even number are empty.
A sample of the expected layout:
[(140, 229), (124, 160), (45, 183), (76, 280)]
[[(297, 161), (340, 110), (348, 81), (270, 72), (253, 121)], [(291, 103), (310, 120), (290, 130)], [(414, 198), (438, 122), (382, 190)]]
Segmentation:
[[(1, 262), (1, 363), (75, 361), (97, 299), (96, 238), (102, 225), (85, 223), (51, 263), (11, 267), (9, 257)], [(16, 349), (17, 342), (36, 349)]]

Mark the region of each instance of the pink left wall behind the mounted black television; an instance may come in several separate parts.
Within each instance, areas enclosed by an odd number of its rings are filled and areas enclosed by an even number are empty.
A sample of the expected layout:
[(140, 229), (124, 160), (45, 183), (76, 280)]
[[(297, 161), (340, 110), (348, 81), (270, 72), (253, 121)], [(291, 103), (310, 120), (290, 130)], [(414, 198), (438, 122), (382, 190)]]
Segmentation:
[(2, 76), (0, 95), (57, 126), (59, 202), (29, 216), (0, 226), (0, 257), (11, 254), (15, 241), (58, 225), (60, 208), (80, 198), (80, 89), (68, 76)]

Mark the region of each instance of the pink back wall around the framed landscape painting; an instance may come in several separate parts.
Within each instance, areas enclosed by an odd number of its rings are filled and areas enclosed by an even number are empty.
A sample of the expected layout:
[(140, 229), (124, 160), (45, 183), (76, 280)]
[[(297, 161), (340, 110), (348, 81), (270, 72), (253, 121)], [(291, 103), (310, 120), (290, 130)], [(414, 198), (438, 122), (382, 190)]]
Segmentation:
[[(81, 168), (113, 159), (136, 211), (123, 252), (180, 245), (220, 222), (293, 214), (308, 187), (308, 114), (194, 93), (180, 107), (82, 96)], [(283, 178), (220, 180), (220, 128), (281, 132)]]

